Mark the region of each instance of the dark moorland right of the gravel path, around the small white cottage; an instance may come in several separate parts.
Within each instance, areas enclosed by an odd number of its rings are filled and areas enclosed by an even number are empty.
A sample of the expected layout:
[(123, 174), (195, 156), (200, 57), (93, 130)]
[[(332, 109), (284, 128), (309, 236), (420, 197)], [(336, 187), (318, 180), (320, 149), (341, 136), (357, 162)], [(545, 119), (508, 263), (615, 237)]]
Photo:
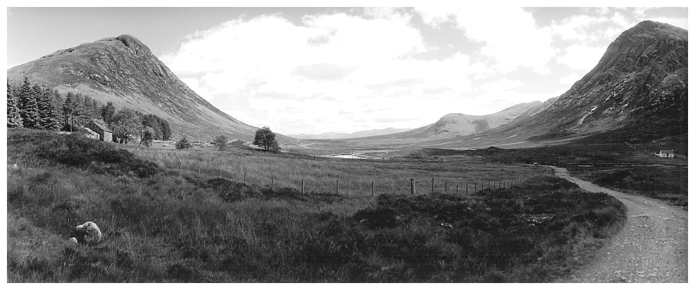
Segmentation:
[[(677, 141), (677, 142), (676, 142)], [(546, 164), (565, 167), (574, 176), (603, 187), (648, 196), (687, 208), (687, 157), (654, 157), (663, 148), (676, 148), (687, 155), (687, 137), (653, 144), (569, 144), (543, 148), (509, 150), (425, 149), (408, 158), (438, 156), (479, 158), (502, 164)]]

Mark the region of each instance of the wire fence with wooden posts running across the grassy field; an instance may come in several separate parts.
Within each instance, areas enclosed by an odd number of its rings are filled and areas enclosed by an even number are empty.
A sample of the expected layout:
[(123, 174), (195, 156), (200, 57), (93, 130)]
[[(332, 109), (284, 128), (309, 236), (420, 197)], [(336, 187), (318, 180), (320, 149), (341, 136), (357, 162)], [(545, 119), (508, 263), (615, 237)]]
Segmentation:
[[(172, 164), (174, 165), (174, 164)], [(172, 166), (170, 168), (175, 168)], [(332, 192), (336, 194), (344, 194), (348, 196), (377, 196), (379, 194), (461, 194), (471, 195), (483, 189), (499, 189), (509, 188), (520, 185), (522, 182), (541, 175), (540, 172), (527, 172), (517, 175), (512, 179), (502, 180), (477, 180), (468, 182), (464, 178), (455, 180), (455, 178), (403, 178), (402, 180), (384, 180), (377, 179), (365, 180), (360, 178), (356, 181), (347, 178), (332, 178), (329, 182), (322, 180), (317, 182), (316, 179), (300, 179), (287, 180), (282, 176), (275, 176), (272, 173), (268, 174), (250, 174), (246, 171), (235, 170), (234, 172), (224, 171), (222, 169), (202, 168), (199, 165), (196, 167), (184, 167), (183, 162), (178, 164), (179, 171), (193, 171), (198, 176), (206, 176), (208, 178), (225, 178), (228, 180), (243, 182), (247, 184), (256, 184), (261, 186), (277, 189), (280, 187), (289, 187), (297, 189), (305, 193), (309, 191), (317, 192)], [(453, 179), (453, 180), (452, 180)]]

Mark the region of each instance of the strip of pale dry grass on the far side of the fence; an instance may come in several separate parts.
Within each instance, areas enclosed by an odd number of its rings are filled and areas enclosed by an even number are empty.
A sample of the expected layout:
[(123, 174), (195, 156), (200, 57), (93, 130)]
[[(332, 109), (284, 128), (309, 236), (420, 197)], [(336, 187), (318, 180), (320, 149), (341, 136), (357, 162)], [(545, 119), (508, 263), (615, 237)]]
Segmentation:
[[(245, 148), (227, 151), (164, 151), (156, 148), (129, 147), (136, 156), (155, 162), (163, 168), (179, 169), (202, 177), (220, 176), (230, 180), (300, 189), (304, 180), (306, 191), (338, 192), (347, 196), (370, 196), (372, 182), (375, 195), (409, 194), (410, 179), (414, 179), (416, 194), (432, 191), (472, 194), (474, 187), (500, 187), (507, 182), (539, 173), (548, 173), (544, 167), (526, 164), (493, 164), (480, 160), (345, 160), (311, 157), (297, 154), (273, 154)], [(477, 183), (477, 185), (475, 185)], [(484, 185), (483, 185), (484, 184)]]

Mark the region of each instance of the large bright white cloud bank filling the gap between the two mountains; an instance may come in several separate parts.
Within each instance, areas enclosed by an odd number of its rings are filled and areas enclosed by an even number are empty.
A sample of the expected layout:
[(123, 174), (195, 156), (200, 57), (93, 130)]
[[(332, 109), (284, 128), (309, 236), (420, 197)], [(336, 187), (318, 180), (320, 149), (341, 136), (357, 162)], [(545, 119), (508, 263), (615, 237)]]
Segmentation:
[[(506, 6), (255, 15), (197, 31), (161, 60), (220, 110), (279, 133), (417, 128), (562, 94), (632, 12), (590, 9), (546, 26)], [(555, 76), (565, 77), (538, 79)]]

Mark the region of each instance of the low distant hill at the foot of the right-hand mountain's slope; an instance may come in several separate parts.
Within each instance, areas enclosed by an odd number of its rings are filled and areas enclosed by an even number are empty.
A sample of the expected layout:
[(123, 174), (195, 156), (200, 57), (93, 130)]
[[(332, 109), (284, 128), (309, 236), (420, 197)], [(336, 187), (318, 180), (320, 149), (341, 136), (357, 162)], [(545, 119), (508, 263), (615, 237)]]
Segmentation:
[(377, 136), (383, 139), (445, 139), (480, 133), (509, 123), (530, 110), (537, 110), (543, 105), (540, 101), (521, 103), (494, 114), (474, 116), (468, 114), (446, 114), (431, 125), (402, 133)]

